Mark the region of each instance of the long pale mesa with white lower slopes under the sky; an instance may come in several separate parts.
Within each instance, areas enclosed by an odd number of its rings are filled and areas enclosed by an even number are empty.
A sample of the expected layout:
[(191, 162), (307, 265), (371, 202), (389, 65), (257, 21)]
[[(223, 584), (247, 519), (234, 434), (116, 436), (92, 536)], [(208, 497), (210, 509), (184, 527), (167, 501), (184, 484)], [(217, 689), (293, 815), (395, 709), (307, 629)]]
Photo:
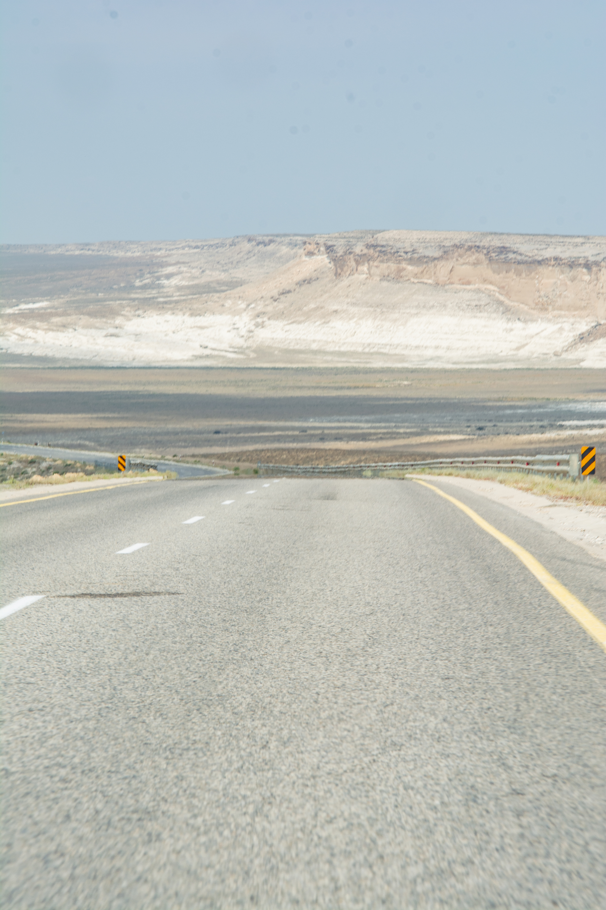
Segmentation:
[(604, 238), (360, 231), (5, 247), (0, 264), (8, 362), (606, 366)]

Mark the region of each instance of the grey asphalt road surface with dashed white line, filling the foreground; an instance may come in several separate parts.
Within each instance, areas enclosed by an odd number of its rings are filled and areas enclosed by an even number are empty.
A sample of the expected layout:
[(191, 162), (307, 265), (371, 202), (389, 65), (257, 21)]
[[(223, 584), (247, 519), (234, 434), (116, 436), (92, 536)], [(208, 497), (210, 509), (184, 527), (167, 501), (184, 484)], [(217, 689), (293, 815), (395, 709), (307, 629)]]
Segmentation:
[[(456, 496), (606, 620), (600, 562)], [(606, 655), (452, 503), (225, 479), (0, 514), (0, 605), (45, 595), (0, 622), (5, 910), (601, 905)]]

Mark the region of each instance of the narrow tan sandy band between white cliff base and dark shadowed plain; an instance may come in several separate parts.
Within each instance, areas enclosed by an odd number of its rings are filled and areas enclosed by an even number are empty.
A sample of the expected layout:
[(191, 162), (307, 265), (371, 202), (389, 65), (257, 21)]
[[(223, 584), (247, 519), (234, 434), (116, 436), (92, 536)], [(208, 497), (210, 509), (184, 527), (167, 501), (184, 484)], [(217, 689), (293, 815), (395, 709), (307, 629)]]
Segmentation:
[(154, 367), (103, 369), (3, 354), (5, 392), (125, 391), (271, 399), (335, 395), (376, 398), (522, 400), (606, 396), (601, 369), (375, 369), (331, 367)]

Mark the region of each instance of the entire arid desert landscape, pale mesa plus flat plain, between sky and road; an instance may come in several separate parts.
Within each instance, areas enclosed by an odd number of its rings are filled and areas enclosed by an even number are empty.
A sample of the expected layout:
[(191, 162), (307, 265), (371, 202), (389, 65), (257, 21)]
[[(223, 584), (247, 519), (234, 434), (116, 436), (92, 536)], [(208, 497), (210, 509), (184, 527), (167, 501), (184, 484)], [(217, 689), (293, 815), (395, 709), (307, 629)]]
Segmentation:
[(4, 439), (253, 463), (606, 449), (603, 238), (8, 247)]

